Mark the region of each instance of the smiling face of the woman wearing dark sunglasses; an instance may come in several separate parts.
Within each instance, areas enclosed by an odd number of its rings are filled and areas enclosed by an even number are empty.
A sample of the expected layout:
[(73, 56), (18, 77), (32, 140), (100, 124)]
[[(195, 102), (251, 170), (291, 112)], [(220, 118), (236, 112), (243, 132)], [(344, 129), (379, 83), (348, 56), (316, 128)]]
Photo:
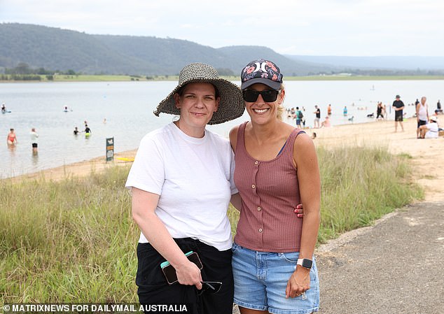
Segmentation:
[[(248, 90), (256, 90), (262, 92), (263, 90), (272, 90), (270, 87), (264, 84), (254, 84), (248, 87)], [(285, 90), (277, 95), (277, 99), (272, 102), (266, 102), (263, 100), (262, 95), (258, 95), (258, 99), (254, 102), (245, 101), (245, 108), (250, 115), (251, 122), (258, 124), (265, 124), (270, 120), (277, 120), (278, 107), (284, 101)]]

